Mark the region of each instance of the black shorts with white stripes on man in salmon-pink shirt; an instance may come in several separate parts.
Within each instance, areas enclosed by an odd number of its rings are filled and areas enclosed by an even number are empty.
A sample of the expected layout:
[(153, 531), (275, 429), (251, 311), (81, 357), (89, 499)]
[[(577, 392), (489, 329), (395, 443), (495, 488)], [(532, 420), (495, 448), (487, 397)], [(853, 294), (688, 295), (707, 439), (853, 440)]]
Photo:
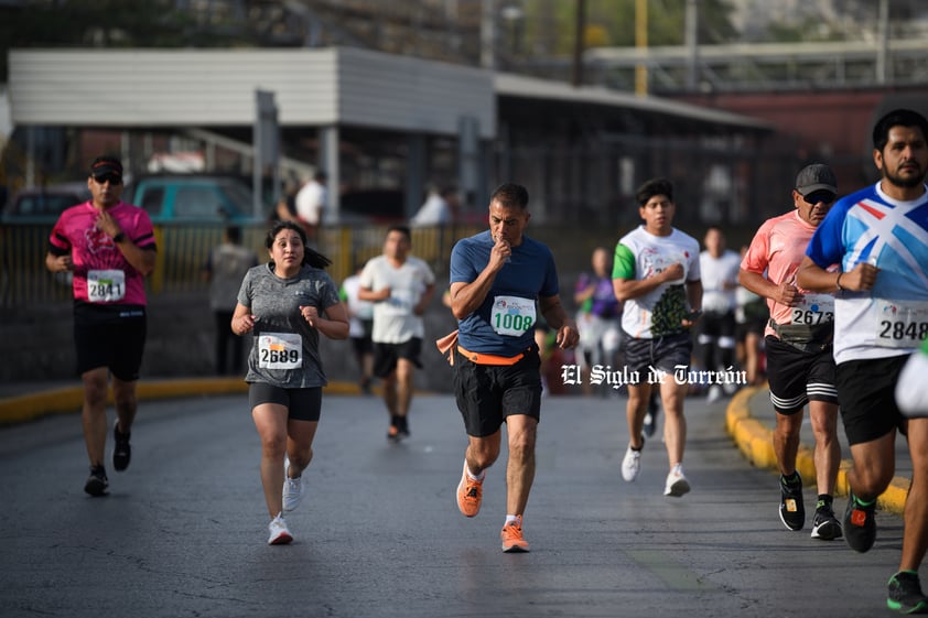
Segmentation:
[(831, 346), (817, 353), (803, 351), (773, 335), (764, 343), (774, 410), (788, 415), (801, 412), (809, 401), (838, 403)]

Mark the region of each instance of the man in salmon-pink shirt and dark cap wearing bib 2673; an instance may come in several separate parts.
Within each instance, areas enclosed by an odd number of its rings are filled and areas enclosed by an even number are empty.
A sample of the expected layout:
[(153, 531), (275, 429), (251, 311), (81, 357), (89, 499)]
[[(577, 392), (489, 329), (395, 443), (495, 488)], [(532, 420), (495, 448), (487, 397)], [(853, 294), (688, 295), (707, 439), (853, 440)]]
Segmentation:
[(780, 469), (780, 521), (802, 530), (806, 509), (802, 479), (796, 469), (802, 410), (816, 438), (818, 500), (812, 539), (842, 535), (832, 499), (841, 447), (838, 444), (838, 390), (834, 386), (834, 299), (796, 284), (796, 272), (818, 225), (838, 197), (838, 181), (828, 165), (803, 167), (792, 191), (794, 209), (760, 226), (744, 256), (738, 282), (767, 299), (767, 375), (777, 413), (774, 452)]

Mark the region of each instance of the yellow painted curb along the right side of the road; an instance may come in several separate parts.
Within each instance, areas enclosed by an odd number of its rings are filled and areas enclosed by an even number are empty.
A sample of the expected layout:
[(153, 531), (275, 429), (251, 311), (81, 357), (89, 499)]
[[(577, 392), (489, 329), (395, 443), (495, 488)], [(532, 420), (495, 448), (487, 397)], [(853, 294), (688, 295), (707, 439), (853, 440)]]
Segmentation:
[[(778, 470), (777, 457), (774, 453), (773, 429), (767, 427), (751, 415), (751, 398), (768, 392), (767, 388), (746, 387), (732, 398), (725, 410), (725, 431), (732, 436), (738, 451), (758, 468)], [(848, 495), (848, 470), (852, 467), (850, 459), (842, 459), (834, 484), (838, 496)], [(796, 469), (803, 478), (816, 478), (816, 459), (813, 448), (802, 444), (796, 456)], [(896, 476), (880, 498), (877, 506), (886, 511), (903, 514), (906, 496), (911, 480)]]

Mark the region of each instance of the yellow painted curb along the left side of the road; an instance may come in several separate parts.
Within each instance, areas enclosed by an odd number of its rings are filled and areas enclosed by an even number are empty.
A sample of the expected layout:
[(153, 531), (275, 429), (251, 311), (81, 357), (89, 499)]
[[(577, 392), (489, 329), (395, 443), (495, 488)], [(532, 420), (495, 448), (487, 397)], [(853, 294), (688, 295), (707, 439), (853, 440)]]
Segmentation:
[[(247, 393), (248, 384), (241, 378), (192, 378), (177, 380), (140, 380), (137, 394), (140, 400), (198, 397), (212, 394)], [(325, 394), (360, 394), (357, 384), (330, 382)], [(112, 392), (108, 397), (112, 404)], [(0, 399), (0, 424), (31, 421), (47, 414), (79, 412), (84, 405), (80, 386), (52, 389), (44, 392)]]

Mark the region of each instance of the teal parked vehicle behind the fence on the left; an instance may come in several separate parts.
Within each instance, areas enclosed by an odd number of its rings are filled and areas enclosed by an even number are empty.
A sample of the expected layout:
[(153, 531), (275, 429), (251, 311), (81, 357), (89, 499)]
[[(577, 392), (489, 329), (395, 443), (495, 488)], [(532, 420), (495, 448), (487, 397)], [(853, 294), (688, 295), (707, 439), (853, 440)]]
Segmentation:
[(251, 188), (234, 176), (170, 174), (131, 182), (122, 199), (152, 223), (227, 224), (255, 220)]

